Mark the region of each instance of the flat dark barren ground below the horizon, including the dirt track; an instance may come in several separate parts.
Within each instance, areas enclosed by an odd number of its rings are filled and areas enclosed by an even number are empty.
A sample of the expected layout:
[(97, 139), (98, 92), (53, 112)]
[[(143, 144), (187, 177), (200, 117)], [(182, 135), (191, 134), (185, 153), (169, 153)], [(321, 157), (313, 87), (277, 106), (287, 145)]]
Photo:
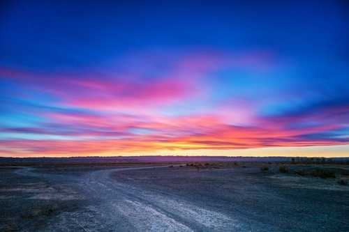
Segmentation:
[(0, 167), (0, 231), (349, 231), (348, 165), (179, 165)]

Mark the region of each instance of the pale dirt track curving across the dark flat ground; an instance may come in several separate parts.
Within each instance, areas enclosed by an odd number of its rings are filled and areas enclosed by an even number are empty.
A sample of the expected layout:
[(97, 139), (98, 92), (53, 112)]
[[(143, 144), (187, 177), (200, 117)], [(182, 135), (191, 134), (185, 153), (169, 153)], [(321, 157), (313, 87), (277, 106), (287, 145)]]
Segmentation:
[(119, 183), (117, 171), (158, 169), (131, 167), (91, 171), (77, 178), (89, 201), (74, 213), (61, 213), (50, 231), (241, 231), (240, 224), (221, 212), (198, 206), (171, 193)]

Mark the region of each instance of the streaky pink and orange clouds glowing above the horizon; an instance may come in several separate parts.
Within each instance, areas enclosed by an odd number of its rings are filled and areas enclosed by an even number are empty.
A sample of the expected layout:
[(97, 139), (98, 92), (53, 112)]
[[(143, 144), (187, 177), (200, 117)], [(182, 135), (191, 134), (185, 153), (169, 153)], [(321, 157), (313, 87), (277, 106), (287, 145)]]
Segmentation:
[[(171, 60), (165, 70), (153, 67), (155, 73), (147, 72), (147, 56), (143, 65), (123, 71), (115, 68), (45, 74), (2, 69), (1, 78), (21, 85), (29, 96), (47, 93), (54, 99), (49, 101), (52, 108), (59, 109), (39, 111), (37, 127), (8, 127), (1, 132), (59, 135), (63, 139), (7, 139), (0, 141), (0, 154), (98, 155), (161, 149), (348, 144), (348, 139), (318, 136), (348, 123), (346, 106), (267, 117), (258, 114), (261, 105), (257, 102), (261, 104), (262, 100), (229, 99), (196, 114), (158, 114), (162, 107), (194, 98), (205, 105), (209, 89), (202, 87), (202, 82), (222, 67), (268, 70), (271, 60), (269, 54), (258, 52), (230, 56), (197, 52)], [(297, 126), (309, 121), (314, 123)], [(315, 134), (315, 139), (307, 137), (309, 134)]]

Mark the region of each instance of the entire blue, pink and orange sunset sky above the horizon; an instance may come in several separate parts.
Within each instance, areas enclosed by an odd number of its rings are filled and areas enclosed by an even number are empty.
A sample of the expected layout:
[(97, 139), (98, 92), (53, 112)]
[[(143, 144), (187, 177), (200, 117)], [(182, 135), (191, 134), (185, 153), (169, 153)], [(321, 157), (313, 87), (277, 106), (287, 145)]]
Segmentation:
[(0, 156), (349, 156), (347, 1), (0, 4)]

